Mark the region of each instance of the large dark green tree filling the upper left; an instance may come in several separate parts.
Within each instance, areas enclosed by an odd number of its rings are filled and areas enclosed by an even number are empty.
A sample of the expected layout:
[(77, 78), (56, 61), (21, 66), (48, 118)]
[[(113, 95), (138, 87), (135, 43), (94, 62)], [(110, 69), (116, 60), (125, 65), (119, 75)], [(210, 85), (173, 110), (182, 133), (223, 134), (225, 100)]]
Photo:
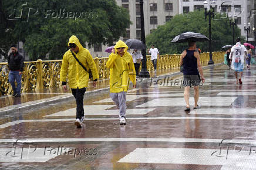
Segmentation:
[[(114, 0), (5, 0), (2, 6), (0, 34), (5, 36), (0, 48), (4, 42), (22, 41), (31, 60), (44, 59), (46, 54), (49, 59), (61, 59), (72, 35), (78, 36), (83, 46), (86, 42), (89, 46), (111, 44), (130, 24), (129, 13)], [(22, 17), (16, 19), (22, 10)]]

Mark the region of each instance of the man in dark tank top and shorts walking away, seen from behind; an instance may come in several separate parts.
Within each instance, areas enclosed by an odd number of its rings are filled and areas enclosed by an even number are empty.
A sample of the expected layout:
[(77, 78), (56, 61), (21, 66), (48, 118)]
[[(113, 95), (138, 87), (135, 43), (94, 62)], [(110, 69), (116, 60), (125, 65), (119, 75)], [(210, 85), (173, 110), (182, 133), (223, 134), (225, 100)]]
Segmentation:
[[(203, 69), (200, 64), (200, 53), (197, 51), (196, 42), (188, 42), (188, 49), (184, 50), (180, 57), (180, 65), (183, 65), (183, 86), (184, 86), (184, 98), (186, 101), (186, 109), (184, 111), (190, 111), (189, 96), (190, 87), (194, 86), (194, 109), (200, 108), (197, 104), (199, 99), (200, 81), (204, 83)], [(200, 80), (200, 76), (201, 80)]]

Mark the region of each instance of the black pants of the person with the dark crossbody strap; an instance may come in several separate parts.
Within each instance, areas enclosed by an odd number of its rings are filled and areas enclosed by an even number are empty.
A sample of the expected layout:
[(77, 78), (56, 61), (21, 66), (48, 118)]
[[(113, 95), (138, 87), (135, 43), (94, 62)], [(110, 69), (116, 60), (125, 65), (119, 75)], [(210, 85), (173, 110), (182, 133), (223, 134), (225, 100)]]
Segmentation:
[(71, 89), (73, 96), (76, 98), (76, 119), (81, 119), (85, 115), (83, 110), (83, 95), (85, 95), (86, 88)]

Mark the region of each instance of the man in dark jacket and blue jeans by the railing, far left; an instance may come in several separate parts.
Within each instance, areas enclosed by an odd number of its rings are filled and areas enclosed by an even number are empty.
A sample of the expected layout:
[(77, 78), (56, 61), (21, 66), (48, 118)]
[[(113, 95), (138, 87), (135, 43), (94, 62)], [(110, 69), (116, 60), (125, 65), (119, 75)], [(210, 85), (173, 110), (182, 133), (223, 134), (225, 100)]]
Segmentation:
[[(9, 82), (12, 85), (12, 96), (21, 97), (21, 74), (23, 72), (24, 59), (23, 56), (19, 54), (15, 45), (11, 46), (11, 54), (8, 56), (8, 67), (9, 67)], [(15, 86), (15, 80), (17, 86)]]

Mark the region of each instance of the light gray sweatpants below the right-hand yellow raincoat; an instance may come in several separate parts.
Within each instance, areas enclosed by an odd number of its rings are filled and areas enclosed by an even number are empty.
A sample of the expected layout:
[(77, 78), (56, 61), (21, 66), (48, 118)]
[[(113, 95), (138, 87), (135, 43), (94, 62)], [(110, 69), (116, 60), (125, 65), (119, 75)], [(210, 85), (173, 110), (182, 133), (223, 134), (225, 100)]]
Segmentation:
[(110, 93), (110, 97), (116, 103), (117, 107), (119, 107), (119, 115), (125, 116), (126, 113), (126, 91), (122, 91), (120, 93)]

